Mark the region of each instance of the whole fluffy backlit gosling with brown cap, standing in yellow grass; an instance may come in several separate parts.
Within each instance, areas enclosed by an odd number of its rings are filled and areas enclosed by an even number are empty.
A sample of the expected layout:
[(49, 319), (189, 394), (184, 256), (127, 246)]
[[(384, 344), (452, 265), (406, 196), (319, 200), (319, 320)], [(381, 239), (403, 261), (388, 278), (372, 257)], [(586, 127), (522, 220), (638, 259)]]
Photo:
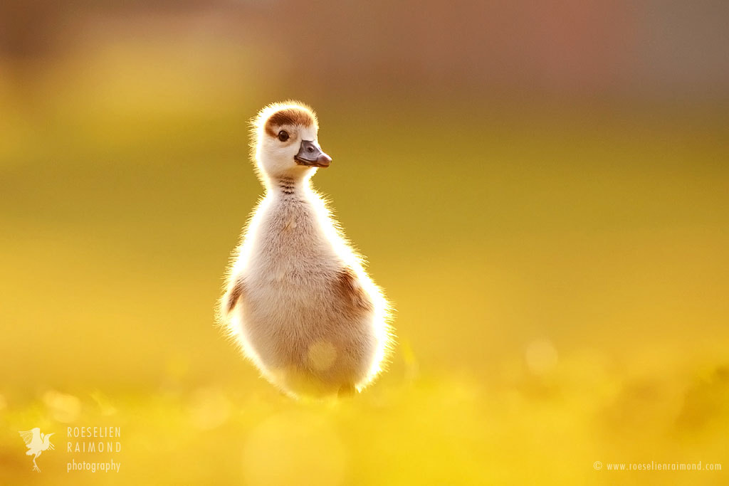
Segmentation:
[(254, 136), (266, 195), (235, 251), (222, 320), (286, 393), (359, 391), (389, 346), (389, 306), (311, 188), (316, 168), (331, 162), (319, 149), (316, 117), (300, 103), (268, 106)]

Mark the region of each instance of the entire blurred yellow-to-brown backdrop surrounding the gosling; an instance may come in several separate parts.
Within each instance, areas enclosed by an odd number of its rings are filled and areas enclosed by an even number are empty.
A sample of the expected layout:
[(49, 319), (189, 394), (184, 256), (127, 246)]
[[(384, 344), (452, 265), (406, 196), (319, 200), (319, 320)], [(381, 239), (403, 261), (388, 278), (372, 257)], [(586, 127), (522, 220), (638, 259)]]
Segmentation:
[[(728, 4), (0, 7), (0, 484), (729, 481)], [(295, 98), (397, 308), (302, 404), (214, 326)], [(121, 429), (114, 454), (67, 427)], [(17, 431), (54, 432), (38, 458)], [(118, 473), (66, 471), (71, 460)], [(595, 463), (722, 463), (607, 471)]]

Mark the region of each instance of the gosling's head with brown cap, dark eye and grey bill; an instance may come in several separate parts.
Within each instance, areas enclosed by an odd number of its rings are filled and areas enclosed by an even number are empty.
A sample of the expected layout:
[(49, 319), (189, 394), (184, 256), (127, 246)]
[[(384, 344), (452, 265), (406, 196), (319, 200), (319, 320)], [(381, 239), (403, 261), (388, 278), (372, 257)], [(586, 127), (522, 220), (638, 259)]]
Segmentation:
[(319, 146), (316, 114), (303, 103), (268, 105), (252, 125), (254, 160), (259, 171), (269, 178), (300, 179), (332, 162)]

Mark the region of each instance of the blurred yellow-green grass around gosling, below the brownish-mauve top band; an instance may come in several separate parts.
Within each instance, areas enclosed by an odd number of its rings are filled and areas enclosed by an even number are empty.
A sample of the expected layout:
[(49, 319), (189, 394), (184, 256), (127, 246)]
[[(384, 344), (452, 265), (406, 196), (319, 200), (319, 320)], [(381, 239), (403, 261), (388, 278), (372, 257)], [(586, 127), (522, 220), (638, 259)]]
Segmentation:
[[(260, 195), (246, 120), (306, 93), (140, 49), (0, 85), (3, 484), (725, 481), (592, 464), (725, 458), (726, 111), (304, 97), (399, 348), (362, 396), (296, 404), (213, 308)], [(66, 424), (120, 426), (120, 474), (65, 474)], [(58, 434), (35, 476), (31, 426)]]

